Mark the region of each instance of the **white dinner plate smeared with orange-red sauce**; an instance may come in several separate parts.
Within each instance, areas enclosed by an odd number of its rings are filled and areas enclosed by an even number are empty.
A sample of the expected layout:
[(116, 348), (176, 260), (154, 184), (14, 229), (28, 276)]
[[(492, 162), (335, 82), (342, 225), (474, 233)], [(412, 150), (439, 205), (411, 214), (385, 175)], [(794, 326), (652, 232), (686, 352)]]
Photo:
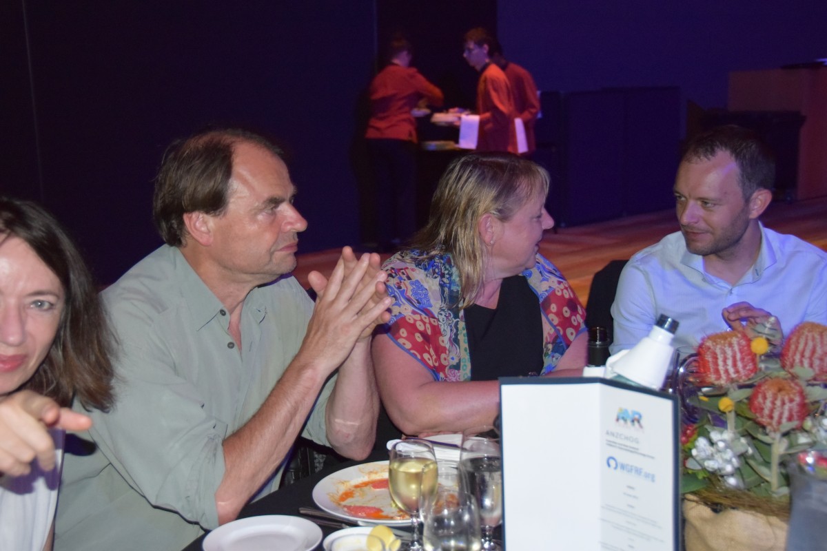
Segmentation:
[[(354, 465), (324, 477), (313, 488), (313, 501), (328, 513), (354, 522), (367, 520), (389, 526), (411, 523), (408, 513), (396, 508), (390, 499), (387, 461)], [(370, 510), (361, 513), (360, 507)]]

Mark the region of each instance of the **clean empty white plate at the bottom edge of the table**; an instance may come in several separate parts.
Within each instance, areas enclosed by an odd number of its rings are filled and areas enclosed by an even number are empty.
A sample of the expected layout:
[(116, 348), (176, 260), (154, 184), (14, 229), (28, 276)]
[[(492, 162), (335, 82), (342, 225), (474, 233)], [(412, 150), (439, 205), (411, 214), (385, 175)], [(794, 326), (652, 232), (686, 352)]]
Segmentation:
[(311, 551), (322, 529), (288, 515), (251, 516), (219, 526), (204, 538), (204, 551)]

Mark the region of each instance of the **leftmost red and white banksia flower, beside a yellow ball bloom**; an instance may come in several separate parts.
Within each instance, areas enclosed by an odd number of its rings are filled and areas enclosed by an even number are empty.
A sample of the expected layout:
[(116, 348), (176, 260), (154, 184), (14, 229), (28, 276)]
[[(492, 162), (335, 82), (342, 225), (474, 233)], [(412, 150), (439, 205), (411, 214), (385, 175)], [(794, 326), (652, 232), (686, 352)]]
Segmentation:
[(700, 341), (696, 369), (701, 384), (721, 387), (752, 378), (758, 373), (758, 359), (746, 334), (724, 331)]

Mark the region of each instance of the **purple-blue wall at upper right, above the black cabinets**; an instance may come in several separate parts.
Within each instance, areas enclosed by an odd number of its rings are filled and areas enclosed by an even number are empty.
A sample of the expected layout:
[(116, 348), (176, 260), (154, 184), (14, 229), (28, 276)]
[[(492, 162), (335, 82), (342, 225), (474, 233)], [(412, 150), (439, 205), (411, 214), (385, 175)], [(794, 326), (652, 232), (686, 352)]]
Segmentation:
[(679, 86), (726, 107), (730, 71), (827, 57), (823, 0), (501, 0), (500, 40), (541, 90)]

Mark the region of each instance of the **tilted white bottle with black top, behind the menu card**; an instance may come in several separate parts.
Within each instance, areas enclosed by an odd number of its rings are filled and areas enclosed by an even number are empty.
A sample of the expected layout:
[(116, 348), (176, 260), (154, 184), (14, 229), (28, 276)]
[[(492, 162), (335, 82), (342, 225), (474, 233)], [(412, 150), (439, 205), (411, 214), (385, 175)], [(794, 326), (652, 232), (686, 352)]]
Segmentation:
[(621, 350), (606, 360), (605, 378), (660, 389), (675, 354), (672, 338), (677, 325), (669, 316), (658, 317), (649, 335), (632, 349)]

